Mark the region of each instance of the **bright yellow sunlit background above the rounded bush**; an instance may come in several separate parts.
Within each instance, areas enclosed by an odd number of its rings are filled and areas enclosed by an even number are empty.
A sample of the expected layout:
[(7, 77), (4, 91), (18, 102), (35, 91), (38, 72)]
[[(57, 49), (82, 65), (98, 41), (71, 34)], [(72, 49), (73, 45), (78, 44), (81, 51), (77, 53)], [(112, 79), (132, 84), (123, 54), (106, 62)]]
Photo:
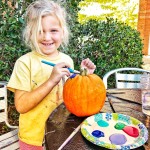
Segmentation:
[(80, 11), (78, 21), (81, 24), (88, 20), (105, 20), (106, 17), (125, 22), (132, 28), (137, 28), (138, 21), (138, 0), (114, 0), (114, 1), (89, 1), (84, 0), (79, 3)]

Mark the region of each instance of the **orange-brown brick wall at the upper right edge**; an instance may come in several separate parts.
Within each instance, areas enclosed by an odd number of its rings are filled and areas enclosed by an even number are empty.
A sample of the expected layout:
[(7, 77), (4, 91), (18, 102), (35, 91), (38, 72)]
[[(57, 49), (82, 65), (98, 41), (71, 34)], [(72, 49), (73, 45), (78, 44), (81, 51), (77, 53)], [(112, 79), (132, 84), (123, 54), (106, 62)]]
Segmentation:
[(143, 54), (150, 55), (150, 0), (139, 1), (137, 29), (140, 31), (144, 43)]

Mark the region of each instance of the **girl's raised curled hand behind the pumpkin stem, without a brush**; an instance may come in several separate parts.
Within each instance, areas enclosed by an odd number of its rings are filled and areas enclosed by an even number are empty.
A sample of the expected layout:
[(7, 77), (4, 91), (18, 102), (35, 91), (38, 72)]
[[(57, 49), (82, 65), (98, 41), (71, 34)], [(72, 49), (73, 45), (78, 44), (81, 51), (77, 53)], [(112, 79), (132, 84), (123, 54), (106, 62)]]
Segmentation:
[(86, 68), (88, 71), (88, 74), (93, 74), (94, 70), (96, 69), (96, 66), (89, 58), (87, 58), (87, 59), (82, 60), (81, 68)]

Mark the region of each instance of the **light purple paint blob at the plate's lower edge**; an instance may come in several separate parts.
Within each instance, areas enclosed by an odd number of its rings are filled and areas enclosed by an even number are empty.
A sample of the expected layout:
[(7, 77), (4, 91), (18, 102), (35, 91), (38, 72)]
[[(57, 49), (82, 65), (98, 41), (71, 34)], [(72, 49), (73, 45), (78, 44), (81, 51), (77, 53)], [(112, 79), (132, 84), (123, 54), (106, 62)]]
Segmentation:
[(112, 144), (123, 145), (127, 142), (126, 137), (123, 134), (115, 133), (109, 137)]

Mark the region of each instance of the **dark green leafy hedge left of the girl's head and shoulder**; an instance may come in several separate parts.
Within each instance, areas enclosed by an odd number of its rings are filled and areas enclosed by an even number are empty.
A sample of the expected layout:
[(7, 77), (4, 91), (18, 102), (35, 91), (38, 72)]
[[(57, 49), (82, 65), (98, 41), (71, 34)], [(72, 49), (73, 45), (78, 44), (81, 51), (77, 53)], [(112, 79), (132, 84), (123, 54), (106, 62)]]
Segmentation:
[(22, 3), (18, 7), (11, 2), (0, 1), (0, 80), (8, 81), (14, 62), (28, 51), (22, 39), (24, 26)]

